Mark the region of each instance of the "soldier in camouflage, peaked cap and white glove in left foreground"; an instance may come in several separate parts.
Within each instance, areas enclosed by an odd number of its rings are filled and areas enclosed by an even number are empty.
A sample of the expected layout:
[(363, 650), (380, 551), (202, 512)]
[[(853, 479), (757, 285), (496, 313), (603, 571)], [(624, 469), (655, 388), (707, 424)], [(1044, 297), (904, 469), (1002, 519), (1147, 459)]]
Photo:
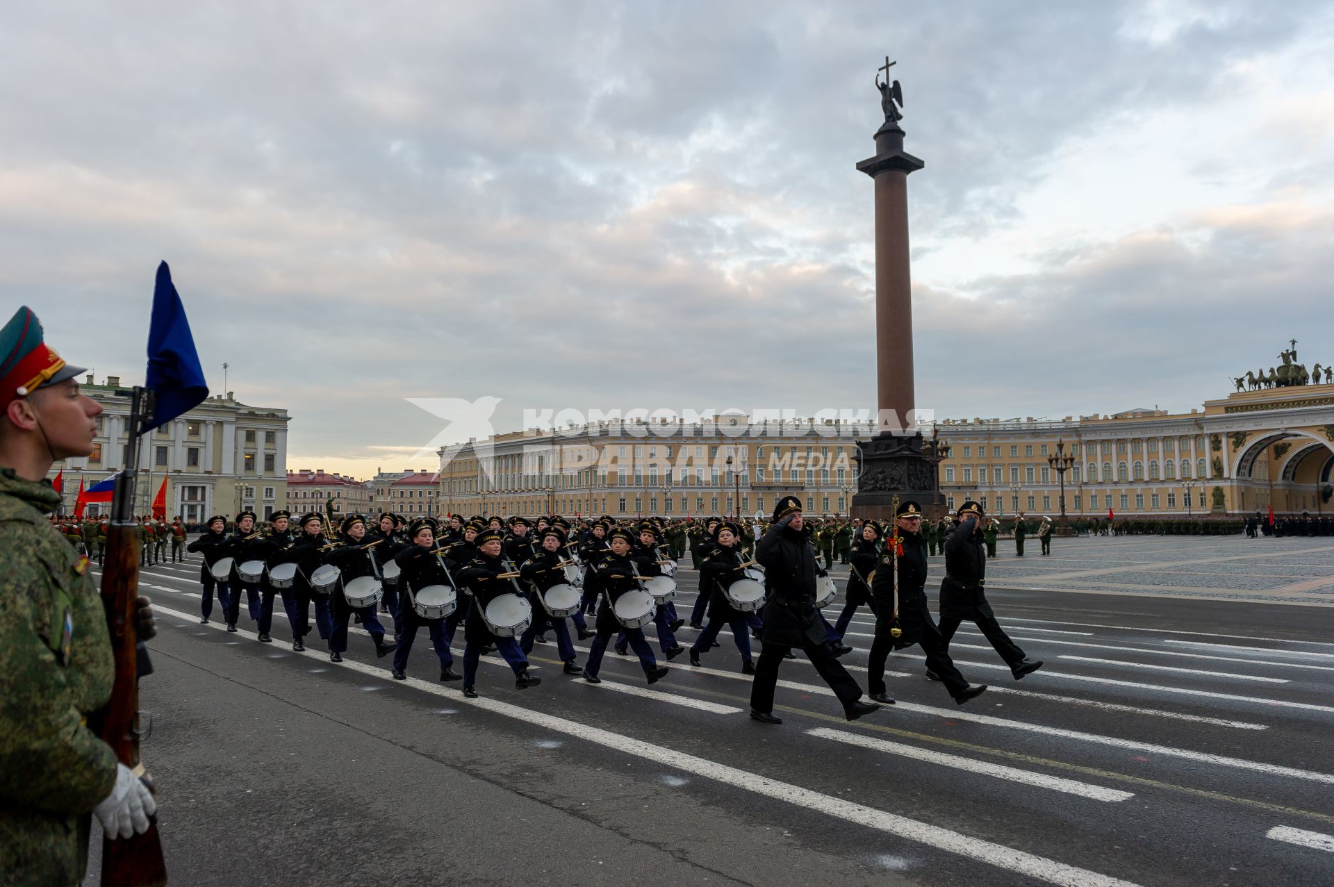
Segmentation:
[[(80, 556), (45, 519), (55, 459), (92, 452), (101, 407), (20, 308), (0, 329), (0, 879), (77, 886), (92, 815), (105, 834), (148, 830), (148, 788), (87, 726), (111, 698), (111, 635)], [(141, 598), (140, 638), (152, 638)]]

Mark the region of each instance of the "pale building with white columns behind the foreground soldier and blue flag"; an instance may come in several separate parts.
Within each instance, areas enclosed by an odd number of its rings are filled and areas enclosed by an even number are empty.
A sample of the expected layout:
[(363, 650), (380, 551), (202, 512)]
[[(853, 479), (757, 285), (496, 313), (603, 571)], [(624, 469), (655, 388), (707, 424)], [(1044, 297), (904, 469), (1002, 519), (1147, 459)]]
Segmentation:
[[(101, 404), (97, 436), (87, 459), (57, 462), (51, 475), (64, 471), (64, 511), (72, 512), (80, 478), (87, 486), (104, 480), (124, 467), (129, 395), (120, 379), (108, 376), (95, 384), (92, 375), (81, 384)], [(185, 415), (140, 437), (139, 490), (135, 511), (147, 515), (165, 480), (165, 516), (201, 523), (209, 515), (228, 519), (249, 508), (267, 518), (287, 502), (287, 409), (251, 407), (233, 392), (213, 395)], [(109, 506), (89, 504), (89, 514)]]

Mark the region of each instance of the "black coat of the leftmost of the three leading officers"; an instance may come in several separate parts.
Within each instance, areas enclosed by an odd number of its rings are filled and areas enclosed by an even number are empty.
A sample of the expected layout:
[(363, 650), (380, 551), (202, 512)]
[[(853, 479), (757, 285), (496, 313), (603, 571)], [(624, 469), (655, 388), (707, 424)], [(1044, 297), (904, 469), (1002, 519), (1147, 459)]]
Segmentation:
[(768, 592), (762, 640), (784, 647), (826, 643), (824, 622), (815, 607), (815, 578), (823, 571), (815, 567), (810, 535), (774, 524), (755, 544), (755, 560), (764, 567)]

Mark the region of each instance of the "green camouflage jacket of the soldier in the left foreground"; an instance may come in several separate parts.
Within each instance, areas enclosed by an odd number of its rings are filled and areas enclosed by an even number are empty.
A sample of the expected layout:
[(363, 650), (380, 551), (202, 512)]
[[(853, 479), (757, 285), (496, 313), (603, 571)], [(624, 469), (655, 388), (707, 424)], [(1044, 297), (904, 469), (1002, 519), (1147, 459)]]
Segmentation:
[(92, 808), (116, 756), (84, 719), (111, 698), (101, 600), (80, 558), (43, 516), (47, 482), (0, 474), (0, 874), (8, 884), (77, 884)]

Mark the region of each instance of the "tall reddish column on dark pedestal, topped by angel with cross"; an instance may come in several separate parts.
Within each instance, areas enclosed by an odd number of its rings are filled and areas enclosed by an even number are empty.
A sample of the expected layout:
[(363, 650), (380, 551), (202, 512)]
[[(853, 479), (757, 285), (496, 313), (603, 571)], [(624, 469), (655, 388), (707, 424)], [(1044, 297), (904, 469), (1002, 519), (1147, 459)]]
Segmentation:
[(880, 431), (858, 443), (858, 491), (852, 514), (892, 518), (894, 496), (914, 499), (928, 512), (943, 510), (936, 466), (948, 451), (911, 428), (912, 277), (908, 269), (908, 173), (923, 164), (903, 149), (903, 89), (890, 80), (895, 63), (876, 73), (884, 124), (875, 131), (875, 156), (856, 164), (875, 183), (875, 380)]

